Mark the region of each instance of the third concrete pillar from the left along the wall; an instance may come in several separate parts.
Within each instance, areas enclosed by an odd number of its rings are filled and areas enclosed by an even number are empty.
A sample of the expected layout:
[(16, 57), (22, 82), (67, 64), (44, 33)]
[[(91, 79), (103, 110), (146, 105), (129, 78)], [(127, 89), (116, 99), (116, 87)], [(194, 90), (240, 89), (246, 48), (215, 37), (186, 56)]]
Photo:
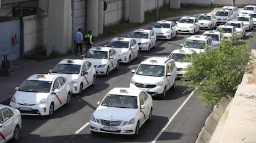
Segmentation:
[(129, 22), (142, 23), (144, 22), (144, 1), (130, 0), (129, 1)]

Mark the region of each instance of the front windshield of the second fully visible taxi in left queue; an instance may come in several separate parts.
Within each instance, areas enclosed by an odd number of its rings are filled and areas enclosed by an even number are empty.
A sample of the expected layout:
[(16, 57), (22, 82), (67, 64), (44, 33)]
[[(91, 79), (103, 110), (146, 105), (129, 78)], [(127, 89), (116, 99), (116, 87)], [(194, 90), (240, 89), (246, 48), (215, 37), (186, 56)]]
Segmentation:
[(79, 74), (80, 65), (58, 64), (53, 68), (53, 73)]

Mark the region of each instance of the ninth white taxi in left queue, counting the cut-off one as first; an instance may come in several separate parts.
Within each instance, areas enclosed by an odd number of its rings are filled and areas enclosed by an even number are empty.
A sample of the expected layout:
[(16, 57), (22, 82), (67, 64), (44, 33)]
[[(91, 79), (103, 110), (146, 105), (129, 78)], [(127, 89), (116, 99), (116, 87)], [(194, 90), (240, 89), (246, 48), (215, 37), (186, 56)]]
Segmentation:
[(211, 30), (217, 26), (217, 18), (214, 14), (201, 14), (197, 18), (200, 28)]

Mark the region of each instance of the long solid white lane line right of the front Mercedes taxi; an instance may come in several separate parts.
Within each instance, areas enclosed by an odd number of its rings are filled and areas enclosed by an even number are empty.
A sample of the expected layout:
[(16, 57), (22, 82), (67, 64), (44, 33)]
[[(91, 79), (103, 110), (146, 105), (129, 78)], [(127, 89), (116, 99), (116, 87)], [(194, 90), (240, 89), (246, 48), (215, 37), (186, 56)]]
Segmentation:
[(179, 113), (179, 111), (181, 110), (182, 107), (184, 107), (184, 105), (187, 103), (187, 101), (190, 99), (190, 97), (194, 94), (194, 91), (192, 91), (189, 94), (189, 97), (187, 97), (187, 99), (181, 104), (181, 106), (176, 110), (176, 112), (174, 113), (173, 116), (171, 116), (171, 118), (169, 119), (168, 123), (164, 126), (163, 129), (161, 129), (161, 131), (158, 133), (158, 135), (155, 137), (155, 139), (151, 142), (151, 143), (155, 143), (158, 138), (161, 136), (161, 134), (163, 134), (164, 130), (169, 126), (169, 124), (173, 121), (173, 119), (175, 118), (175, 116), (177, 115), (177, 113)]

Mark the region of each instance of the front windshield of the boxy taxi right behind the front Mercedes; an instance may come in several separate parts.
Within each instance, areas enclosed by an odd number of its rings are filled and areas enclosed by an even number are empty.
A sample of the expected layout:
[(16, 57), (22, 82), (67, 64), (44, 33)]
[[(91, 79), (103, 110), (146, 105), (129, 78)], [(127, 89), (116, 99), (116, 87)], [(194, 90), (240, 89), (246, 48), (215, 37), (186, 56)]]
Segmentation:
[(164, 66), (141, 64), (136, 71), (136, 74), (145, 76), (164, 76)]

